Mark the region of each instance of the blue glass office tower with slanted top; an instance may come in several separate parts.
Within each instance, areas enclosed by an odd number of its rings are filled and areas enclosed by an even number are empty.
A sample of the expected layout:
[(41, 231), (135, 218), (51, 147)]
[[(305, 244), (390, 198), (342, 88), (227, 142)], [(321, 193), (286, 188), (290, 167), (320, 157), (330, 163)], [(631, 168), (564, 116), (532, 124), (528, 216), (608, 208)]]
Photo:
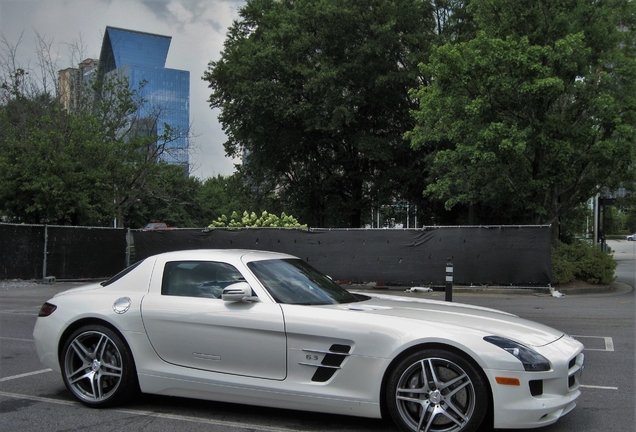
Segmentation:
[[(157, 135), (169, 125), (176, 139), (166, 145), (161, 159), (189, 172), (190, 72), (165, 67), (170, 36), (106, 27), (99, 70), (102, 76), (128, 78), (131, 88), (145, 82), (142, 95), (148, 122)], [(155, 120), (156, 119), (156, 123)], [(143, 122), (141, 122), (143, 124)]]

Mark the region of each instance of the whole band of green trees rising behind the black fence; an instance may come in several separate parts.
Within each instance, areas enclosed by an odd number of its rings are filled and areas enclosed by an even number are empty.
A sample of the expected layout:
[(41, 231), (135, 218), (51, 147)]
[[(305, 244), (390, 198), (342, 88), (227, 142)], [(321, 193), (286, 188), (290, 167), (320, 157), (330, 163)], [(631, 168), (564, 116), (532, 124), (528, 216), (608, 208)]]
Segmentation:
[[(66, 112), (7, 63), (0, 215), (186, 227), (249, 208), (359, 227), (407, 202), (427, 224), (552, 223), (571, 239), (581, 204), (636, 172), (635, 7), (249, 0), (204, 76), (244, 164), (205, 181), (156, 163), (182, 131), (153, 136), (143, 82), (98, 81)], [(635, 232), (634, 207), (612, 229)]]

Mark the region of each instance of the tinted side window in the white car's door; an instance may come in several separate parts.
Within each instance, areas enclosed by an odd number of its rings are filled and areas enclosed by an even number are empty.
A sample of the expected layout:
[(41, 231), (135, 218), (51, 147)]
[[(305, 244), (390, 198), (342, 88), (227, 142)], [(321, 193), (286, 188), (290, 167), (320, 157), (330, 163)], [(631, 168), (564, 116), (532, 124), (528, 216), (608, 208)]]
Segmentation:
[(244, 281), (233, 266), (211, 261), (171, 261), (163, 269), (161, 294), (221, 298), (223, 288)]

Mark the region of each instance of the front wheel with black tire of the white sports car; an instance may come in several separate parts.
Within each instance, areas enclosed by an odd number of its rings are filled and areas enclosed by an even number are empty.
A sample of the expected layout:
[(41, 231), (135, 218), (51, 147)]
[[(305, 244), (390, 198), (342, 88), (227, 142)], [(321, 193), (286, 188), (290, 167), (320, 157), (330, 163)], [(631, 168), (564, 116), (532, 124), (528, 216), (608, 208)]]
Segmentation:
[(443, 349), (403, 359), (386, 389), (393, 421), (408, 432), (474, 432), (488, 411), (482, 375), (464, 357)]

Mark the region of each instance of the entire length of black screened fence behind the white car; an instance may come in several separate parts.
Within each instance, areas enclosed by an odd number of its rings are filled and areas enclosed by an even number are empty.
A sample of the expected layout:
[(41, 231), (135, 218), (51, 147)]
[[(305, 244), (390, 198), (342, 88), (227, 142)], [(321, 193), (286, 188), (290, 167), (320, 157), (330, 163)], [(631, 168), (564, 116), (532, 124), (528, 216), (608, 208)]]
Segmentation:
[[(0, 224), (0, 279), (102, 278), (126, 265), (127, 230)], [(551, 283), (550, 227), (411, 230), (134, 231), (135, 260), (184, 249), (257, 249), (301, 257), (334, 279), (444, 285)], [(45, 253), (46, 250), (46, 253)], [(44, 274), (46, 269), (46, 274)]]

